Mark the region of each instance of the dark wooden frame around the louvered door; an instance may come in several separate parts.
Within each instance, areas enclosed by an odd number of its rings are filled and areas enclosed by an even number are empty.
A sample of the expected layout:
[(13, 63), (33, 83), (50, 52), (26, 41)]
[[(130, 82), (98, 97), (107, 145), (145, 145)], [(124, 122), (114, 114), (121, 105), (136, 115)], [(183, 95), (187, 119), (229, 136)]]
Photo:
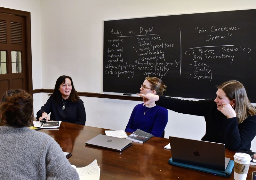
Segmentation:
[(30, 12), (20, 11), (15, 9), (9, 9), (0, 7), (0, 12), (6, 14), (12, 14), (16, 16), (21, 16), (25, 18), (26, 22), (26, 34), (27, 34), (27, 59), (25, 60), (27, 63), (27, 69), (24, 70), (27, 72), (27, 91), (33, 97), (33, 82), (32, 82), (32, 54), (31, 54), (31, 22), (30, 22)]

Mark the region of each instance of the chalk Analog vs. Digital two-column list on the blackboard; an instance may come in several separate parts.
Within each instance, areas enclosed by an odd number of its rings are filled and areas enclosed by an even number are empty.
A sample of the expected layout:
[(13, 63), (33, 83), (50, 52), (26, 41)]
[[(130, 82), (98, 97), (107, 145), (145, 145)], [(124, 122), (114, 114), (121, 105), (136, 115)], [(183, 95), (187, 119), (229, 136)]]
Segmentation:
[[(106, 40), (107, 43), (111, 43), (106, 52), (108, 57), (107, 64), (105, 64), (106, 75), (133, 78), (134, 69), (136, 69), (136, 72), (139, 71), (144, 76), (158, 76), (162, 78), (170, 70), (170, 66), (174, 65), (177, 67), (180, 64), (178, 60), (173, 60), (173, 62), (165, 60), (164, 51), (173, 48), (174, 44), (161, 41), (161, 36), (154, 34), (154, 27), (143, 28), (140, 26), (137, 31), (128, 31), (128, 34), (131, 35), (127, 36), (122, 36), (122, 31), (119, 30), (111, 29), (109, 32), (109, 35), (117, 34), (120, 36), (109, 36), (109, 39)], [(121, 37), (122, 41), (119, 41)], [(118, 38), (118, 43), (113, 41), (113, 38)], [(131, 41), (130, 38), (134, 41), (132, 49), (137, 54), (132, 57), (133, 61), (130, 61), (130, 58), (128, 60), (122, 58), (125, 51), (124, 44), (127, 41)]]

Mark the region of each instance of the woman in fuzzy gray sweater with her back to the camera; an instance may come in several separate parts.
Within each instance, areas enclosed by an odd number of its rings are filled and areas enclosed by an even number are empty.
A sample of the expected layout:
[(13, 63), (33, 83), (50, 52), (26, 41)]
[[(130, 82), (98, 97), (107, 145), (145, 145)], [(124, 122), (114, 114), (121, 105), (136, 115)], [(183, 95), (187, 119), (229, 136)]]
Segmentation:
[(9, 90), (0, 104), (0, 179), (79, 179), (58, 143), (29, 129), (33, 99), (23, 90)]

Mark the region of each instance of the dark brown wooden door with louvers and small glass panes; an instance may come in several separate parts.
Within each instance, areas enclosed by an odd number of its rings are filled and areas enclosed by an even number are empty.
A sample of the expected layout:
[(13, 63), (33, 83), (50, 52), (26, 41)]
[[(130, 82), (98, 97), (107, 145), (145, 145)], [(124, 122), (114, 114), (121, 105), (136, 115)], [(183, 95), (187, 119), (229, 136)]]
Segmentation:
[(32, 94), (27, 23), (26, 17), (2, 13), (0, 9), (0, 98), (8, 89), (20, 88)]

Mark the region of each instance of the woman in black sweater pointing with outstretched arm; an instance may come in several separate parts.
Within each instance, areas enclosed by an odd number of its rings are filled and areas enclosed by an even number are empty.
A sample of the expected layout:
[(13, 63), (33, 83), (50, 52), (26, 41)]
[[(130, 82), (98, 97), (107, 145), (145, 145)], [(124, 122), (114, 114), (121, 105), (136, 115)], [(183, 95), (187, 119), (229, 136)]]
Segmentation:
[(157, 105), (175, 112), (204, 116), (206, 131), (201, 140), (223, 143), (233, 151), (250, 151), (256, 135), (256, 109), (248, 100), (244, 86), (230, 80), (217, 88), (217, 97), (212, 100), (189, 101), (155, 94), (137, 95), (146, 98), (144, 104), (156, 101)]

